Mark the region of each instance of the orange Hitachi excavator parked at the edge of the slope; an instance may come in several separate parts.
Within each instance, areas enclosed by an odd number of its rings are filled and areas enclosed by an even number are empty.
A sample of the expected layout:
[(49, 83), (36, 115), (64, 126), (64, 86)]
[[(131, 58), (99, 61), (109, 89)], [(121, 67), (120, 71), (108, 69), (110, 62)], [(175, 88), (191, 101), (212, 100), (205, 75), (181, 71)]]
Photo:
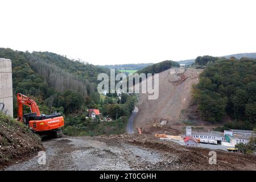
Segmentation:
[[(38, 105), (32, 98), (17, 94), (18, 118), (25, 125), (39, 134), (48, 137), (57, 138), (62, 136), (61, 127), (64, 126), (64, 118), (60, 113), (52, 113), (50, 115), (41, 114)], [(23, 114), (23, 105), (30, 107), (30, 113)]]

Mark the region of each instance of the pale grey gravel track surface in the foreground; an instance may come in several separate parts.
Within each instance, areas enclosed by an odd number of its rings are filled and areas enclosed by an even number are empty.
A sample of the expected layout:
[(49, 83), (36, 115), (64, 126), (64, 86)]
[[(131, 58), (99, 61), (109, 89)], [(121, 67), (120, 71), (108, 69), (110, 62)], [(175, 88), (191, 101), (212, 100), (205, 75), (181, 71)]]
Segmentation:
[(64, 137), (43, 142), (46, 165), (38, 164), (38, 156), (5, 170), (132, 170), (147, 169), (161, 162), (159, 152), (148, 148), (117, 143), (117, 146), (90, 137)]

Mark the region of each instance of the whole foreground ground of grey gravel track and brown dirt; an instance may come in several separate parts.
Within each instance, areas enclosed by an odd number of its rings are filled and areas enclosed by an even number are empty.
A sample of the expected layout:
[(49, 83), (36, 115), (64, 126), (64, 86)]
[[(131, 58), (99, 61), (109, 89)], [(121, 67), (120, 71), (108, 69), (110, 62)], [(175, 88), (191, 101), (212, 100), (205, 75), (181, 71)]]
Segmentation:
[(256, 156), (217, 151), (209, 164), (209, 150), (162, 142), (149, 135), (63, 137), (43, 142), (46, 164), (34, 157), (6, 170), (256, 170)]

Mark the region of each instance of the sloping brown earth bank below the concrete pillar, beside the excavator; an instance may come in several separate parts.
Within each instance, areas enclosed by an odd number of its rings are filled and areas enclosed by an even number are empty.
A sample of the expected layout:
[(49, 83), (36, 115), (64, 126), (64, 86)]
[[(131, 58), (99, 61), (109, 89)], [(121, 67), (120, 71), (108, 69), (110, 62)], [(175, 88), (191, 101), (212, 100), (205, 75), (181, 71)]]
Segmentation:
[(44, 150), (40, 138), (22, 123), (0, 113), (0, 169)]

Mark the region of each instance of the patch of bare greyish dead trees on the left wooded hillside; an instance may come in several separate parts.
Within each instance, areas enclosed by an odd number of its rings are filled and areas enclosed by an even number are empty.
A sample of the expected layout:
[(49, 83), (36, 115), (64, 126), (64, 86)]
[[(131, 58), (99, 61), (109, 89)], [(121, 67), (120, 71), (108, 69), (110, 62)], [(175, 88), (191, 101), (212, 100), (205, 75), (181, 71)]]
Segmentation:
[[(32, 52), (28, 63), (58, 92), (73, 90), (87, 97), (96, 94), (97, 75), (108, 69), (71, 61), (51, 52)], [(99, 98), (98, 98), (99, 99)]]

